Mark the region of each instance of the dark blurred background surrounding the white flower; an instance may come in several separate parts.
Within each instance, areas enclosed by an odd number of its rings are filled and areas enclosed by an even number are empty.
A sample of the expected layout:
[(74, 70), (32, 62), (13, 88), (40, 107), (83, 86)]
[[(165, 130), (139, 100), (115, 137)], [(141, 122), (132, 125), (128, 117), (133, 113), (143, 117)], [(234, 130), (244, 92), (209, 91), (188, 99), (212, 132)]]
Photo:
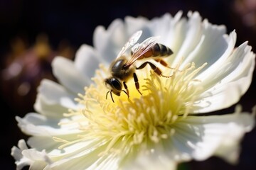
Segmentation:
[[(237, 45), (249, 41), (256, 52), (255, 0), (148, 0), (135, 1), (0, 1), (0, 104), (1, 104), (1, 169), (16, 169), (11, 147), (23, 135), (15, 116), (33, 111), (36, 88), (43, 78), (53, 79), (50, 62), (56, 55), (73, 60), (75, 51), (86, 43), (92, 45), (96, 26), (109, 26), (115, 18), (145, 16), (154, 18), (164, 13), (198, 11), (210, 23), (224, 24), (228, 33), (236, 30)], [(255, 74), (252, 85), (239, 103), (244, 111), (256, 104)], [(233, 111), (229, 108), (226, 111)], [(179, 169), (256, 169), (256, 130), (242, 140), (240, 163), (230, 165), (212, 157), (204, 162), (188, 162)]]

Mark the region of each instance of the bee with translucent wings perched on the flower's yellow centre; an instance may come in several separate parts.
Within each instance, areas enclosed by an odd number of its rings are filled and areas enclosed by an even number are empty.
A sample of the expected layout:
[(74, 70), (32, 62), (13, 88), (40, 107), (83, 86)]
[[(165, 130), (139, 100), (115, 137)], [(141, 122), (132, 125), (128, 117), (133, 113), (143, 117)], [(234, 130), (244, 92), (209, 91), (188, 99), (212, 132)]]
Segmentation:
[[(114, 93), (117, 96), (120, 96), (121, 92), (123, 91), (129, 97), (129, 90), (126, 82), (129, 79), (132, 79), (132, 77), (134, 79), (134, 84), (137, 91), (139, 92), (139, 94), (142, 95), (141, 91), (139, 91), (139, 80), (136, 74), (136, 70), (143, 69), (144, 67), (146, 67), (147, 64), (149, 64), (151, 69), (159, 76), (166, 78), (171, 77), (164, 76), (161, 72), (161, 69), (159, 69), (158, 67), (156, 67), (155, 64), (150, 62), (150, 59), (159, 62), (164, 67), (169, 67), (168, 64), (163, 60), (163, 57), (169, 57), (170, 55), (172, 55), (172, 50), (169, 47), (166, 47), (165, 45), (157, 43), (157, 40), (159, 40), (159, 36), (147, 38), (142, 43), (137, 43), (135, 45), (135, 43), (139, 40), (141, 35), (142, 30), (139, 30), (136, 33), (134, 33), (132, 37), (129, 38), (128, 42), (126, 42), (124, 47), (122, 47), (122, 50), (117, 55), (116, 60), (114, 60), (110, 65), (111, 77), (105, 79), (105, 85), (107, 86), (107, 89), (110, 89), (110, 91), (107, 91), (106, 99), (107, 95), (110, 93), (113, 103), (114, 99), (112, 93)], [(124, 55), (124, 53), (127, 52), (127, 50), (130, 48), (131, 54), (128, 60), (127, 56)], [(145, 59), (146, 61), (139, 67), (136, 67), (134, 63), (137, 60), (142, 59)]]

